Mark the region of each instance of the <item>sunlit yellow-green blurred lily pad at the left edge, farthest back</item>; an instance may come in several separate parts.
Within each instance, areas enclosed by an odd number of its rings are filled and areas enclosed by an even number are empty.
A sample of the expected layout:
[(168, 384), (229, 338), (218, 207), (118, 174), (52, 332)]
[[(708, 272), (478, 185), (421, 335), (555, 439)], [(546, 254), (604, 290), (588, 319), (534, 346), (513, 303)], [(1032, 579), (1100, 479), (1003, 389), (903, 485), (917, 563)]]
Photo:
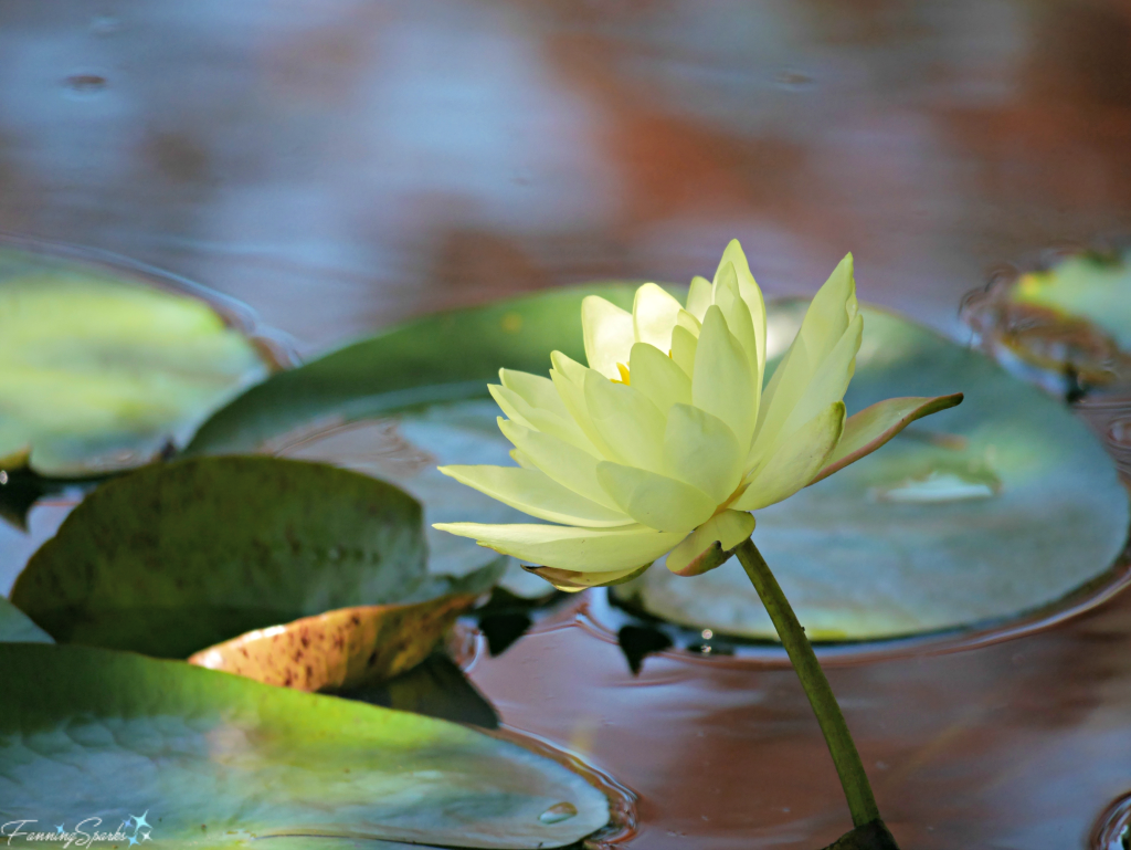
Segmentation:
[(0, 249), (0, 469), (80, 476), (147, 463), (270, 368), (198, 298)]

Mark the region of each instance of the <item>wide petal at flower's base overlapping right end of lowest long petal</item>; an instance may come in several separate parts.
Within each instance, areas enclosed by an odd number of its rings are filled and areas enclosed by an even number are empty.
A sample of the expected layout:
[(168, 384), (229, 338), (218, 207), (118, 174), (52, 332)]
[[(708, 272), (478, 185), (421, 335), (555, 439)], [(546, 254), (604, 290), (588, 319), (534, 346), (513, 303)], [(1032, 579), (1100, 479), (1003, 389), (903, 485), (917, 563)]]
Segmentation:
[(648, 470), (603, 461), (597, 480), (621, 510), (658, 531), (687, 533), (715, 513), (715, 500), (702, 490)]

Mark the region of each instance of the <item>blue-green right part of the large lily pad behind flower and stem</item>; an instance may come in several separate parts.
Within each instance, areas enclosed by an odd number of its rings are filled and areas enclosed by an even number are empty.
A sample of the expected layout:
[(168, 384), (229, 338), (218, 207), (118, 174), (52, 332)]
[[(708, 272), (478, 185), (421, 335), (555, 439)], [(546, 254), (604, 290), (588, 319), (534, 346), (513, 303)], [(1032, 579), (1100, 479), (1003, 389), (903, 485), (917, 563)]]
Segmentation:
[[(769, 309), (780, 346), (804, 303)], [(757, 512), (754, 542), (808, 634), (861, 641), (986, 624), (1105, 574), (1131, 514), (1085, 424), (977, 352), (881, 310), (864, 317), (849, 413), (889, 396), (966, 400)], [(612, 593), (680, 625), (775, 637), (737, 563), (691, 579), (657, 564)]]

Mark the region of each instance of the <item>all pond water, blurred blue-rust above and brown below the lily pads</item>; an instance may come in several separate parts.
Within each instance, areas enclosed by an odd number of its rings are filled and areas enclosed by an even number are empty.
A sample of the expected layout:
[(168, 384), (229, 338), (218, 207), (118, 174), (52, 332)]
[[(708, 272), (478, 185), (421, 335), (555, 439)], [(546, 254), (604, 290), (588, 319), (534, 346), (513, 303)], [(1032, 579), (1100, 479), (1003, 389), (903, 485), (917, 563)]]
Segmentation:
[[(684, 281), (732, 237), (771, 295), (851, 249), (863, 299), (961, 340), (996, 264), (1131, 230), (1129, 43), (1116, 0), (8, 0), (0, 230), (200, 281), (307, 354), (518, 291)], [(1131, 406), (1085, 412), (1131, 463)], [(0, 530), (5, 586), (67, 509)], [(597, 602), (469, 675), (632, 789), (630, 847), (847, 828), (780, 659), (633, 676)], [(1123, 593), (829, 676), (904, 847), (1060, 850), (1126, 816), (1129, 647)]]

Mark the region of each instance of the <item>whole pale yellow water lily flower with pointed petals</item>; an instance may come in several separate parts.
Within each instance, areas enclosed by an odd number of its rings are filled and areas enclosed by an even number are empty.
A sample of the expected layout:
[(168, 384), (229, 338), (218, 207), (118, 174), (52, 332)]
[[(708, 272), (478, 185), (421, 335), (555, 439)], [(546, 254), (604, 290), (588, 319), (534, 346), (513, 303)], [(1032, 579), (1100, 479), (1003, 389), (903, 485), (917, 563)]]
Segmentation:
[(813, 298), (763, 389), (766, 306), (737, 240), (687, 304), (654, 283), (632, 312), (590, 295), (588, 368), (553, 352), (550, 377), (492, 385), (518, 466), (440, 472), (551, 524), (441, 523), (535, 566), (561, 590), (627, 581), (666, 555), (698, 575), (754, 529), (750, 512), (874, 452), (961, 395), (889, 398), (845, 418), (860, 350), (849, 254)]

